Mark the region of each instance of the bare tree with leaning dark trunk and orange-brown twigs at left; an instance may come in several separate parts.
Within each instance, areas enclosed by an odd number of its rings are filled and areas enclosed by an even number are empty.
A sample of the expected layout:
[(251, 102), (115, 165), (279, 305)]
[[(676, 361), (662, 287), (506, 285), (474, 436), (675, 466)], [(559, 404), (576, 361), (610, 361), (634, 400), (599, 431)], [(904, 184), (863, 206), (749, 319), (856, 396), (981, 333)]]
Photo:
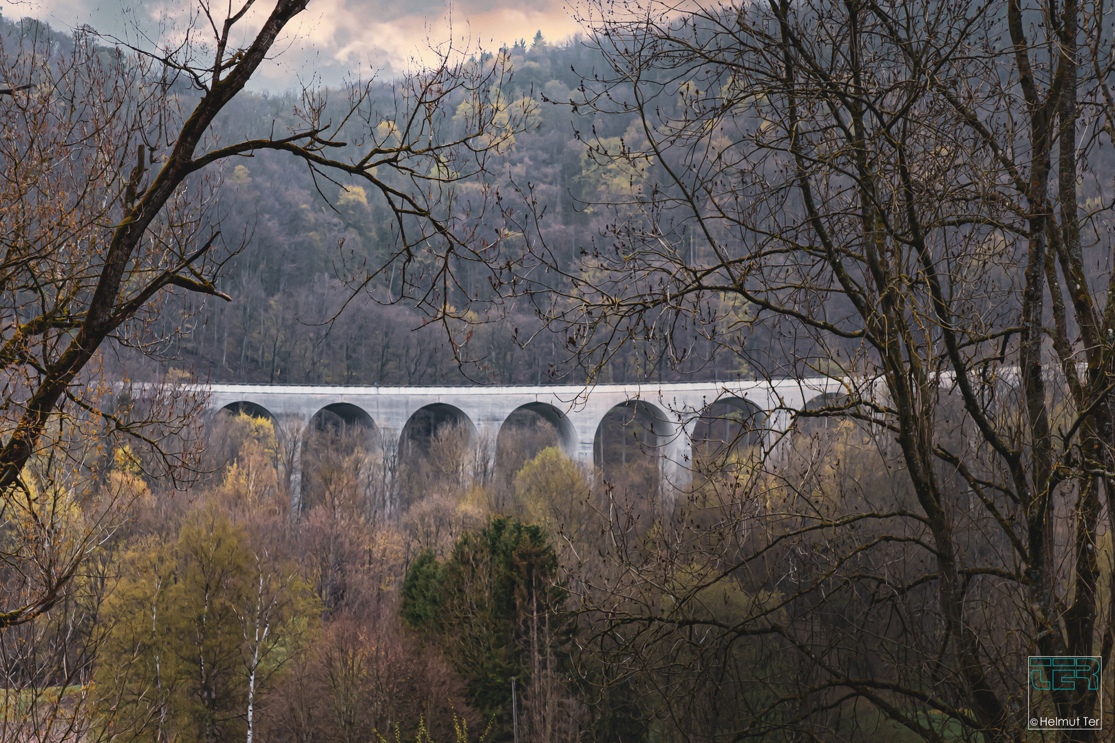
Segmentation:
[[(152, 476), (190, 470), (192, 447), (180, 433), (194, 419), (183, 413), (202, 401), (171, 385), (178, 392), (166, 404), (144, 402), (151, 395), (142, 390), (126, 404), (112, 403), (118, 390), (103, 373), (101, 354), (159, 351), (181, 326), (156, 322), (172, 293), (229, 299), (215, 280), (237, 246), (222, 242), (210, 208), (223, 163), (279, 150), (319, 179), (367, 186), (396, 218), (390, 261), (408, 278), (423, 276), (419, 301), (434, 316), (446, 311), (430, 274), (444, 286), (462, 251), (488, 250), (471, 232), (483, 195), (458, 205), (454, 184), (484, 168), (516, 119), (512, 111), (494, 124), (500, 111), (489, 90), (502, 72), (458, 50), (443, 49), (440, 65), (400, 80), (386, 108), (371, 99), (370, 81), (353, 79), (329, 114), (327, 94), (306, 90), (297, 126), (284, 131), (234, 141), (212, 134), (307, 4), (277, 0), (262, 9), (249, 0), (221, 13), (200, 2), (186, 28), (168, 29), (148, 47), (105, 47), (89, 31), (70, 41), (37, 25), (3, 39), (11, 91), (0, 97), (0, 493), (6, 569), (22, 577), (18, 589), (4, 580), (0, 628), (55, 605), (108, 528), (94, 519), (74, 549), (31, 555), (29, 545), (54, 544), (57, 527), (43, 510), (51, 487), (30, 476), (38, 458), (68, 451), (66, 441), (100, 441), (108, 450), (116, 441), (135, 447)], [(442, 116), (450, 100), (467, 109), (453, 137)], [(469, 216), (458, 218), (463, 213)], [(377, 267), (361, 270), (347, 276), (356, 286)], [(75, 457), (79, 467), (96, 462)]]

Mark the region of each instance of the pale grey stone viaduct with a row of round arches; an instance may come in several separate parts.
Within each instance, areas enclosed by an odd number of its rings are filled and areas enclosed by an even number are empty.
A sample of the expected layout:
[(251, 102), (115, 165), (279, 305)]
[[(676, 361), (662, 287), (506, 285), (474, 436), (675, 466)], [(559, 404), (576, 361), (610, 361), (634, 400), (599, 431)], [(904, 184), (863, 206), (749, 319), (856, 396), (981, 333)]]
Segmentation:
[[(475, 434), (498, 436), (520, 409), (533, 411), (558, 430), (562, 449), (591, 465), (598, 427), (613, 408), (651, 421), (657, 438), (662, 482), (689, 481), (687, 462), (697, 421), (714, 403), (745, 411), (767, 431), (785, 429), (791, 411), (814, 398), (842, 390), (831, 379), (688, 382), (667, 384), (597, 384), (566, 387), (313, 387), (213, 384), (210, 409), (244, 410), (265, 416), (289, 431), (304, 431), (320, 411), (378, 432), (398, 442), (415, 421), (437, 428), (460, 422)], [(759, 413), (759, 416), (756, 416)], [(494, 453), (493, 453), (494, 456)], [(300, 500), (300, 449), (291, 477), (292, 506)]]

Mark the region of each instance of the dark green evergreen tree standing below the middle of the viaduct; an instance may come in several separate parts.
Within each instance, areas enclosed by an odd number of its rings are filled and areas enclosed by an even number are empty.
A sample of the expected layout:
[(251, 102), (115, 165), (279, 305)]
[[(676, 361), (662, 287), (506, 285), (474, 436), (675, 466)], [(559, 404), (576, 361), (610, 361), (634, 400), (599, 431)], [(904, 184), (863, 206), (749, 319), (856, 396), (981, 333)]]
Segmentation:
[(511, 737), (511, 678), (521, 704), (539, 655), (564, 657), (571, 630), (558, 583), (558, 557), (545, 531), (496, 518), (466, 532), (450, 557), (424, 553), (407, 571), (403, 617), (445, 651), (467, 697), (492, 720), (492, 740)]

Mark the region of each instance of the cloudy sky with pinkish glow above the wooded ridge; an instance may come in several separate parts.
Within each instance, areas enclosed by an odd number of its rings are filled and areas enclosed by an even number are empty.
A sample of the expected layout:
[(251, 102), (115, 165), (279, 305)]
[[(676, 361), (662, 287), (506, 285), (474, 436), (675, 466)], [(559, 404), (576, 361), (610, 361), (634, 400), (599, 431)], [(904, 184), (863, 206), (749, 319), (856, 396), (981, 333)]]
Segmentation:
[[(222, 6), (220, 0), (213, 4)], [(261, 12), (271, 7), (266, 0), (259, 4)], [(31, 16), (56, 28), (89, 23), (101, 33), (120, 37), (134, 36), (136, 28), (154, 36), (161, 22), (181, 28), (190, 6), (188, 0), (0, 0), (9, 19)], [(415, 58), (430, 58), (432, 42), (444, 43), (450, 37), (457, 47), (493, 49), (521, 38), (530, 41), (537, 30), (550, 41), (562, 41), (578, 31), (568, 0), (456, 0), (452, 4), (448, 0), (310, 0), (295, 26), (277, 45), (282, 53), (260, 70), (254, 87), (292, 88), (313, 72), (326, 84), (336, 84), (357, 69), (365, 75), (372, 68), (401, 71)]]

